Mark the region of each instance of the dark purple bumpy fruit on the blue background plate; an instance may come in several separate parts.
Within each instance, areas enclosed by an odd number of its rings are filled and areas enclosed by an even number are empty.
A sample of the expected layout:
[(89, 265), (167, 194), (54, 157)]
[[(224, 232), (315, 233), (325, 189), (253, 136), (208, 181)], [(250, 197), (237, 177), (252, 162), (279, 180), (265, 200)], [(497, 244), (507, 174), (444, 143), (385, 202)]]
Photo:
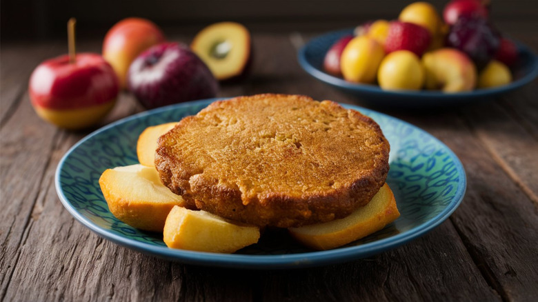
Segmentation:
[(495, 56), (501, 43), (499, 32), (488, 20), (460, 16), (446, 37), (447, 46), (465, 52), (481, 70)]

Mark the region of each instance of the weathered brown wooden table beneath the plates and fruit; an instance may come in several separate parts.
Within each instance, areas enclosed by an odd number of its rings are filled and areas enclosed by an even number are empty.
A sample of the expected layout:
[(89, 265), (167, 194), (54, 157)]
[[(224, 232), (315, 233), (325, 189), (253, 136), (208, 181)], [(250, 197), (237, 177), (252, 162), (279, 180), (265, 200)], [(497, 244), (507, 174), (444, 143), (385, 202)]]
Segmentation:
[[(537, 22), (501, 24), (538, 49)], [(319, 83), (297, 63), (317, 33), (255, 32), (252, 74), (220, 97), (309, 94), (361, 105)], [(175, 39), (189, 41), (192, 34)], [(99, 52), (101, 41), (78, 49)], [(63, 41), (1, 46), (0, 299), (3, 301), (538, 301), (538, 85), (457, 108), (375, 108), (430, 132), (463, 162), (468, 187), (450, 219), (411, 243), (368, 259), (300, 270), (229, 270), (183, 265), (123, 248), (90, 232), (54, 189), (59, 159), (86, 132), (41, 121), (28, 77)], [(139, 112), (121, 94), (103, 122)]]

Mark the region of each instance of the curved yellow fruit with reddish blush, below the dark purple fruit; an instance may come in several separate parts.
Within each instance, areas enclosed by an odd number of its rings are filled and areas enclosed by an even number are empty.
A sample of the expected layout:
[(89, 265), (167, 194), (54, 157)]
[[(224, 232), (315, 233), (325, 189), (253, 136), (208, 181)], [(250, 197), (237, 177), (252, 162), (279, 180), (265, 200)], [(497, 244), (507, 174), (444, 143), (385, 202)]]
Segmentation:
[(441, 48), (422, 56), (426, 88), (443, 92), (463, 92), (475, 88), (477, 68), (464, 52)]

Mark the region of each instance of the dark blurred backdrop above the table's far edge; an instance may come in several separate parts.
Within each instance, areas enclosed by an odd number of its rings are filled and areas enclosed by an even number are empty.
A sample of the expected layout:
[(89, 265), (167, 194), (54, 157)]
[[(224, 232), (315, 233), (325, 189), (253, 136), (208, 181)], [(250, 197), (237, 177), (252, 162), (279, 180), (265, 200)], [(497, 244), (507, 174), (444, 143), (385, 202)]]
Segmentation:
[[(253, 31), (323, 31), (394, 19), (408, 0), (3, 0), (2, 41), (63, 38), (70, 17), (79, 37), (104, 37), (125, 17), (144, 17), (165, 32), (192, 32), (216, 21), (238, 21)], [(439, 11), (446, 0), (429, 0)], [(510, 27), (538, 17), (536, 0), (492, 0), (492, 19)], [(525, 28), (523, 26), (523, 28)], [(537, 30), (537, 28), (528, 28)], [(536, 35), (538, 39), (538, 35)], [(102, 38), (101, 38), (102, 39)]]

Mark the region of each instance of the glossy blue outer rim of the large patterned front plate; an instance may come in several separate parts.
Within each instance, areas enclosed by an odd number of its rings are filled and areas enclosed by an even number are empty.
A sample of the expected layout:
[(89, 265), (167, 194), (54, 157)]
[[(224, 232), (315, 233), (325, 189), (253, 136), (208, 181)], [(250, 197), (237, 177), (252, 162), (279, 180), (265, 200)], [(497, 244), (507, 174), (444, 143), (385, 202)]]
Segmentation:
[(310, 267), (310, 266), (327, 265), (330, 263), (341, 263), (341, 262), (361, 259), (366, 256), (371, 256), (372, 254), (383, 252), (384, 250), (396, 248), (399, 245), (402, 245), (403, 243), (412, 241), (413, 239), (417, 239), (419, 236), (422, 236), (426, 234), (427, 232), (429, 232), (430, 230), (432, 230), (433, 228), (437, 227), (437, 225), (439, 225), (445, 219), (450, 217), (450, 214), (452, 214), (452, 212), (456, 210), (456, 208), (459, 206), (462, 199), (464, 198), (464, 194), (466, 192), (466, 187), (467, 187), (466, 173), (465, 173), (464, 167), (461, 164), (461, 161), (459, 161), (456, 154), (454, 154), (454, 152), (452, 152), (452, 150), (450, 150), (450, 148), (448, 148), (444, 143), (439, 141), (439, 139), (437, 139), (436, 137), (433, 137), (428, 132), (421, 130), (415, 125), (407, 123), (406, 121), (402, 121), (401, 119), (397, 119), (395, 117), (390, 117), (388, 114), (383, 114), (381, 112), (377, 112), (374, 110), (361, 108), (357, 105), (348, 105), (348, 104), (341, 104), (341, 105), (343, 105), (346, 108), (359, 110), (361, 112), (372, 112), (374, 114), (379, 114), (380, 116), (383, 116), (387, 119), (392, 119), (399, 123), (403, 123), (403, 125), (406, 125), (414, 130), (424, 132), (429, 137), (431, 137), (431, 139), (434, 140), (436, 143), (439, 143), (441, 147), (446, 149), (446, 151), (448, 152), (448, 155), (455, 163), (460, 181), (458, 183), (458, 188), (457, 188), (454, 198), (452, 198), (450, 203), (446, 205), (446, 208), (444, 208), (444, 210), (439, 212), (439, 214), (437, 214), (432, 219), (429, 219), (428, 221), (425, 221), (421, 225), (417, 225), (410, 230), (406, 230), (405, 232), (401, 232), (400, 234), (396, 234), (388, 238), (379, 239), (377, 241), (372, 241), (370, 243), (364, 243), (362, 245), (350, 246), (346, 248), (337, 248), (335, 250), (303, 252), (303, 253), (297, 253), (297, 254), (281, 254), (281, 255), (217, 254), (217, 253), (210, 253), (210, 252), (192, 252), (188, 250), (175, 250), (171, 248), (155, 246), (149, 243), (142, 243), (139, 241), (135, 241), (133, 239), (129, 239), (125, 236), (114, 234), (106, 229), (99, 227), (99, 225), (94, 224), (92, 221), (90, 221), (90, 219), (84, 217), (80, 212), (78, 212), (72, 206), (69, 199), (63, 193), (63, 189), (61, 188), (61, 183), (60, 183), (60, 173), (63, 170), (63, 165), (68, 159), (68, 157), (70, 156), (70, 154), (74, 150), (79, 148), (79, 145), (81, 145), (88, 139), (110, 128), (114, 128), (117, 125), (120, 125), (121, 123), (126, 123), (134, 119), (140, 119), (141, 117), (146, 117), (152, 114), (159, 114), (161, 112), (166, 112), (168, 110), (178, 110), (181, 108), (188, 108), (192, 105), (208, 105), (212, 101), (216, 101), (219, 99), (226, 99), (226, 98), (190, 101), (186, 103), (168, 105), (166, 107), (157, 108), (157, 109), (149, 110), (146, 112), (141, 112), (139, 114), (134, 114), (130, 117), (120, 119), (119, 121), (115, 121), (114, 123), (110, 123), (109, 125), (106, 125), (103, 128), (100, 128), (99, 130), (95, 130), (94, 132), (88, 134), (88, 136), (84, 137), (79, 142), (74, 144), (68, 150), (68, 152), (66, 152), (66, 154), (63, 155), (63, 157), (59, 161), (57, 170), (55, 172), (54, 184), (56, 187), (58, 197), (61, 203), (63, 204), (63, 206), (68, 210), (68, 212), (70, 212), (70, 214), (75, 219), (77, 219), (77, 221), (79, 221), (80, 223), (85, 225), (87, 228), (92, 230), (92, 232), (95, 232), (99, 236), (105, 239), (108, 239), (114, 243), (123, 245), (133, 250), (138, 250), (139, 252), (143, 252), (145, 254), (159, 256), (164, 259), (181, 261), (182, 263), (190, 263), (190, 264), (197, 264), (197, 265), (215, 265), (215, 266), (226, 267), (226, 268), (246, 268), (246, 269), (283, 269), (283, 268), (305, 268), (305, 267)]

